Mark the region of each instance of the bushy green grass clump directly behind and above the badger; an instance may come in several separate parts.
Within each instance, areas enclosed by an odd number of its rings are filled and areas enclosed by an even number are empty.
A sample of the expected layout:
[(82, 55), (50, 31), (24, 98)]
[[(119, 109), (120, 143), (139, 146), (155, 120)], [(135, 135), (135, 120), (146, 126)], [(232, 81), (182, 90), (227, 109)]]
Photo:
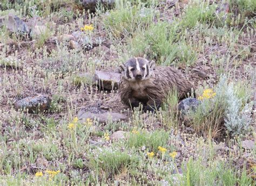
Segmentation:
[(160, 65), (193, 65), (197, 54), (186, 42), (178, 41), (180, 37), (177, 23), (159, 22), (144, 32), (134, 34), (128, 49), (132, 56), (145, 55)]

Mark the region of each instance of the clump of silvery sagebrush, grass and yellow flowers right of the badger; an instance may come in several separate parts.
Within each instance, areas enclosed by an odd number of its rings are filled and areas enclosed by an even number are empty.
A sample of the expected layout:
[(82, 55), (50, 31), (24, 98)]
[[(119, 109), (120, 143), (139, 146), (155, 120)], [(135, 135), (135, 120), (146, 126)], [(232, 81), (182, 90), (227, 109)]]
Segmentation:
[(246, 94), (250, 95), (250, 87), (234, 88), (226, 77), (220, 77), (215, 90), (204, 90), (203, 95), (199, 96), (201, 102), (198, 109), (190, 112), (193, 128), (198, 133), (210, 133), (213, 138), (225, 131), (232, 136), (247, 133), (251, 124), (252, 104), (247, 103), (246, 95), (242, 96), (244, 100), (238, 97), (239, 92), (243, 91), (240, 89), (246, 89)]

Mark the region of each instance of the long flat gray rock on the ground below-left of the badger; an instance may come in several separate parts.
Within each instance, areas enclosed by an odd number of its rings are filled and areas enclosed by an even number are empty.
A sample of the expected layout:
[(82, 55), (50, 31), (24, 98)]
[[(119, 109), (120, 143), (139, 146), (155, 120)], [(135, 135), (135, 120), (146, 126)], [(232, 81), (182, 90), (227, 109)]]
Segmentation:
[(92, 113), (85, 110), (80, 110), (78, 112), (78, 119), (85, 121), (87, 118), (97, 119), (99, 123), (106, 123), (108, 120), (112, 120), (113, 122), (126, 120), (127, 117), (122, 113), (117, 112), (104, 112), (104, 113)]

